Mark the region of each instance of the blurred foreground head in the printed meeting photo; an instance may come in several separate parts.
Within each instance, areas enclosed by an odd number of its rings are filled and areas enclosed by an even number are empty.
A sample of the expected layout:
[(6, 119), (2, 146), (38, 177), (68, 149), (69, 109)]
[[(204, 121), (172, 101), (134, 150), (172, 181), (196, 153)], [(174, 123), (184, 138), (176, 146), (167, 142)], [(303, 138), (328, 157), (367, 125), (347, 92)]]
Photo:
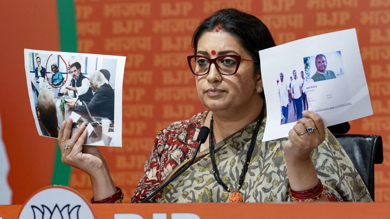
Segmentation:
[(53, 94), (48, 90), (41, 90), (38, 95), (38, 117), (46, 128), (50, 137), (58, 137), (57, 111)]

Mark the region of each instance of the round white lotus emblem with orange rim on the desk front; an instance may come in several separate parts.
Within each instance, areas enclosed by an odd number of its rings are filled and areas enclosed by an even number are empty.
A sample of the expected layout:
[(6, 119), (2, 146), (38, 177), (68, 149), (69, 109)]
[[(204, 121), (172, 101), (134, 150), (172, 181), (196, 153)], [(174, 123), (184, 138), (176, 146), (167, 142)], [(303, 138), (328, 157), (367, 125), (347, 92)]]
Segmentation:
[[(71, 203), (71, 204), (69, 204)], [(19, 219), (96, 218), (88, 201), (65, 186), (48, 186), (35, 192), (24, 204)]]

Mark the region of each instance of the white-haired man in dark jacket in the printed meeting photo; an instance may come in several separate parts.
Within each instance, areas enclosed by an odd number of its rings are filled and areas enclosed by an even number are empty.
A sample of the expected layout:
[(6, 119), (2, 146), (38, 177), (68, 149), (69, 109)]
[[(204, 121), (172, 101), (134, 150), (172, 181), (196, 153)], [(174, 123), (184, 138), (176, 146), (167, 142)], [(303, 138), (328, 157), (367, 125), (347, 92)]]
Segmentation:
[[(89, 86), (94, 90), (95, 94), (90, 102), (86, 102), (90, 113), (99, 115), (99, 117), (107, 117), (110, 120), (114, 120), (114, 91), (108, 84), (105, 76), (95, 71), (91, 74), (89, 79)], [(85, 106), (82, 103), (67, 102), (67, 105), (74, 111), (87, 112)]]

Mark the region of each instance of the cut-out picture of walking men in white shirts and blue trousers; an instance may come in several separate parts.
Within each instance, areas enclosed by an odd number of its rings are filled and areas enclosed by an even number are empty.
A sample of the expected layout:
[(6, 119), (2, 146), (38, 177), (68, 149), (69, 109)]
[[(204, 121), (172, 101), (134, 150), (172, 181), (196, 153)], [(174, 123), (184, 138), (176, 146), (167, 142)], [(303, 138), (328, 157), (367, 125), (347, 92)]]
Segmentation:
[(302, 118), (302, 111), (308, 110), (305, 83), (307, 78), (303, 71), (297, 74), (296, 70), (290, 74), (280, 72), (277, 79), (277, 86), (280, 100), (281, 119), (280, 124), (296, 122)]

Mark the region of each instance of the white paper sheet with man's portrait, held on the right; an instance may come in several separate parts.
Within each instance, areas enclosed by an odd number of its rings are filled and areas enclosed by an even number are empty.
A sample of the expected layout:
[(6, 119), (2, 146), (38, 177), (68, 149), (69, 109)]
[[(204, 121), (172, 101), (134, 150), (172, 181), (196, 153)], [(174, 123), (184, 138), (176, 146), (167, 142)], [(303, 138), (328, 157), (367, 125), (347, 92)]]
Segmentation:
[(267, 100), (263, 141), (287, 137), (307, 107), (325, 126), (372, 115), (355, 29), (296, 40), (259, 55)]

